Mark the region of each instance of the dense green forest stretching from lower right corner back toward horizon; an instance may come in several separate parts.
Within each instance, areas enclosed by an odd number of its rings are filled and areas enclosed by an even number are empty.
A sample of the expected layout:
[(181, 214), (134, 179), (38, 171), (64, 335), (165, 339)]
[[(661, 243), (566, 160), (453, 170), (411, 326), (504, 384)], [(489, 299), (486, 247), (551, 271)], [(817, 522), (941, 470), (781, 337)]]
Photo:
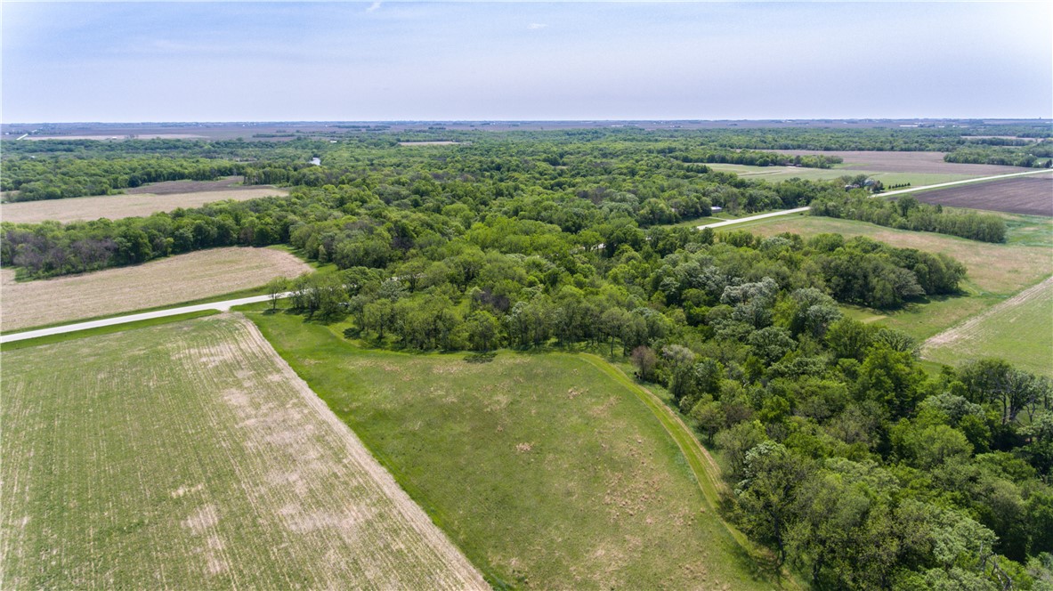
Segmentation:
[[(841, 180), (748, 181), (675, 156), (704, 152), (717, 141), (709, 136), (464, 132), (471, 139), (442, 136), (472, 142), (456, 150), (397, 144), (443, 133), (179, 143), (176, 163), (236, 163), (252, 182), (294, 188), (145, 218), (3, 222), (0, 262), (42, 277), (218, 245), (290, 244), (333, 268), (270, 290), (292, 290), (293, 308), (311, 321), (350, 320), (349, 338), (406, 351), (565, 348), (631, 359), (723, 458), (726, 517), (817, 589), (1051, 588), (1050, 381), (998, 359), (927, 373), (909, 335), (841, 311), (953, 295), (960, 262), (866, 237), (671, 225), (714, 205), (812, 203), (820, 215), (997, 234), (982, 217), (869, 199)], [(823, 135), (840, 149), (953, 141), (943, 130), (717, 134), (727, 150), (808, 147)], [(127, 164), (132, 174), (152, 161), (136, 141), (45, 157), (112, 161), (108, 170)], [(778, 142), (790, 145), (759, 145)], [(73, 163), (54, 170), (81, 174)]]

